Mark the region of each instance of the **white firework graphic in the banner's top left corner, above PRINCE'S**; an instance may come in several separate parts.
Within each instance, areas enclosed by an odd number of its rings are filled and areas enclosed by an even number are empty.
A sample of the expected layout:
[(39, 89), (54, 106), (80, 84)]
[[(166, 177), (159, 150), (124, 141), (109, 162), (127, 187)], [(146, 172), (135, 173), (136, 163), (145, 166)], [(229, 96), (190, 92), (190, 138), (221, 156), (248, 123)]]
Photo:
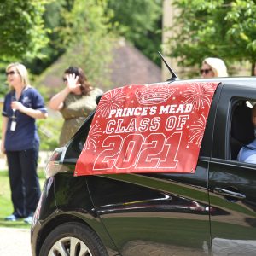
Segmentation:
[(125, 95), (121, 89), (109, 90), (102, 96), (101, 104), (99, 104), (96, 114), (107, 117), (111, 110), (119, 109), (125, 102)]

